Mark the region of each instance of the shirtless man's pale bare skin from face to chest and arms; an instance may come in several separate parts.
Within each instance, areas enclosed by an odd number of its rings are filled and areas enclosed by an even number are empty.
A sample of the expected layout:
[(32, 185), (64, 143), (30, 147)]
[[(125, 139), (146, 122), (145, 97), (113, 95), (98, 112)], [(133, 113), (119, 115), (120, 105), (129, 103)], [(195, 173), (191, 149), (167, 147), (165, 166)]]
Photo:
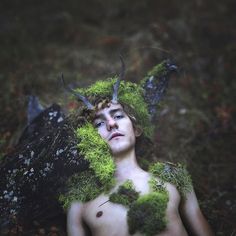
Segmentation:
[[(118, 104), (110, 104), (97, 111), (94, 126), (100, 136), (108, 143), (115, 165), (116, 187), (131, 180), (135, 190), (141, 195), (149, 193), (151, 175), (142, 170), (136, 161), (135, 140), (139, 131), (134, 128), (131, 119)], [(194, 191), (185, 199), (176, 187), (165, 183), (169, 194), (166, 209), (166, 229), (157, 235), (213, 235), (205, 220)], [(114, 189), (112, 190), (114, 191)], [(128, 236), (128, 209), (108, 201), (108, 195), (100, 195), (86, 203), (74, 202), (68, 211), (68, 235), (85, 236), (89, 228), (93, 236)], [(139, 232), (135, 236), (142, 235)]]

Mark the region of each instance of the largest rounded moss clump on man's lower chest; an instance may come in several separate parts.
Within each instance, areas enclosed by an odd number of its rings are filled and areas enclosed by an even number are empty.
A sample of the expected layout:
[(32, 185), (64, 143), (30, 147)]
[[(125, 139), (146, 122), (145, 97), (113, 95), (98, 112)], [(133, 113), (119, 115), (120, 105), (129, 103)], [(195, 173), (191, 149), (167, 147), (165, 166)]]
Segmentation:
[(128, 211), (130, 234), (139, 231), (153, 236), (166, 228), (167, 192), (153, 192), (143, 195), (135, 201)]

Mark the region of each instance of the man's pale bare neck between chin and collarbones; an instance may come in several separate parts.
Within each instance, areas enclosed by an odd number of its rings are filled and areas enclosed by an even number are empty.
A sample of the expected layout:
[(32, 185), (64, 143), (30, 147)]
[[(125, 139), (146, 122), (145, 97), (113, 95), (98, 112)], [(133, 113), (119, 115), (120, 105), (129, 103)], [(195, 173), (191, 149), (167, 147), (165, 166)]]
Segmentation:
[(114, 160), (116, 164), (115, 178), (118, 183), (127, 179), (132, 179), (134, 174), (143, 171), (137, 163), (135, 150), (131, 150), (122, 156), (115, 157)]

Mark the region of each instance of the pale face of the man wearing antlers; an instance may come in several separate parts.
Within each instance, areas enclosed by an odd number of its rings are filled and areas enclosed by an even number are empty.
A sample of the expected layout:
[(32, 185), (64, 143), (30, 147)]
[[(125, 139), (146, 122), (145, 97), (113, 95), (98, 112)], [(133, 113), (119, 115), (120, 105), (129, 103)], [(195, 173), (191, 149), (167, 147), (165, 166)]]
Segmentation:
[(98, 133), (108, 143), (114, 156), (130, 151), (135, 146), (133, 124), (120, 104), (99, 110), (94, 119)]

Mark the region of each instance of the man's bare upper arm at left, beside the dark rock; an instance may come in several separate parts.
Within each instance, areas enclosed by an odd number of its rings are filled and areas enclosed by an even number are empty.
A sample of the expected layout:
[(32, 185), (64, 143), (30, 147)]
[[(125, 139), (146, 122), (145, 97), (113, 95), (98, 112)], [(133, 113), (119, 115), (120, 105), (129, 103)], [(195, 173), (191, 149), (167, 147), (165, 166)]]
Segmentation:
[(67, 232), (68, 236), (85, 236), (83, 227), (83, 204), (74, 202), (71, 204), (67, 213)]

